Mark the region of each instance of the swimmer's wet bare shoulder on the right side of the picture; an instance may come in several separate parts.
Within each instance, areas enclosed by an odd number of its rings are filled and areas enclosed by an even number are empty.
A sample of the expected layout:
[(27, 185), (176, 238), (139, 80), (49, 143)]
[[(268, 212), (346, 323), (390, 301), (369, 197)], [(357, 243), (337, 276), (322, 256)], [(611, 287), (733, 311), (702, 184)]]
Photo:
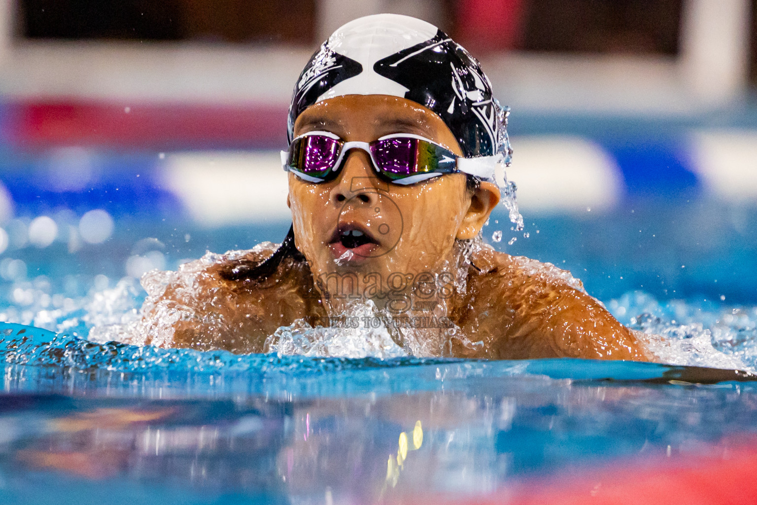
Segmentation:
[[(469, 332), (489, 357), (646, 360), (636, 338), (567, 270), (484, 248), (472, 258)], [(476, 315), (478, 314), (478, 315)]]

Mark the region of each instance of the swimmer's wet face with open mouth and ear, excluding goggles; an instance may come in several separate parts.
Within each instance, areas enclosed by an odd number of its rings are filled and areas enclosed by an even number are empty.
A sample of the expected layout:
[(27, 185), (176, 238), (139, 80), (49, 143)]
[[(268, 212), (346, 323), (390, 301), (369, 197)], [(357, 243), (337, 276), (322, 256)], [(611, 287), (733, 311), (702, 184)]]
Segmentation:
[[(346, 95), (321, 101), (294, 124), (294, 136), (312, 131), (332, 132), (346, 142), (412, 133), (462, 156), (441, 117), (394, 96)], [(392, 273), (438, 271), (450, 259), (455, 239), (478, 235), (499, 201), (496, 185), (482, 182), (480, 189), (469, 191), (463, 173), (412, 185), (384, 182), (360, 149), (345, 153), (331, 181), (306, 182), (292, 173), (288, 177), (295, 243), (316, 279), (330, 273), (378, 273), (385, 286)]]

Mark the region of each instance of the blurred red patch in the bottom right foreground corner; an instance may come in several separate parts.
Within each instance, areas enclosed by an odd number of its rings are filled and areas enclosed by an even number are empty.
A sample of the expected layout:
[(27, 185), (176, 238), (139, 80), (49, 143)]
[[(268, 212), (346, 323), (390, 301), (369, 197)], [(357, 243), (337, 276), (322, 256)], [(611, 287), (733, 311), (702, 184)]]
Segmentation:
[(479, 497), (406, 496), (394, 505), (749, 505), (757, 503), (757, 444), (717, 457), (635, 460)]

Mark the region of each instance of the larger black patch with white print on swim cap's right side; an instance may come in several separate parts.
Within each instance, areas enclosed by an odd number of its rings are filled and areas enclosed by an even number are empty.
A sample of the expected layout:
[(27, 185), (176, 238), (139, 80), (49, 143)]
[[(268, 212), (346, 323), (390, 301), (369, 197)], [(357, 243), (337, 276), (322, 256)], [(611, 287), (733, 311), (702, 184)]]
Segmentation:
[(405, 98), (438, 114), (466, 157), (491, 156), (497, 146), (497, 108), (478, 61), (446, 33), (379, 60), (375, 73), (409, 91)]

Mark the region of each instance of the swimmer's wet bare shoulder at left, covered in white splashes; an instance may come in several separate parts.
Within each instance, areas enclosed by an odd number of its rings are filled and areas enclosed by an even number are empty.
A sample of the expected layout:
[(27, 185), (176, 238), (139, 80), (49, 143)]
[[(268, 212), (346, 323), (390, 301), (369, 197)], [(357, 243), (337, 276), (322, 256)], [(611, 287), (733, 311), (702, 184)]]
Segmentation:
[(305, 311), (302, 269), (282, 266), (263, 282), (245, 276), (276, 248), (263, 242), (247, 251), (207, 253), (176, 271), (145, 274), (142, 343), (262, 352), (268, 335)]

